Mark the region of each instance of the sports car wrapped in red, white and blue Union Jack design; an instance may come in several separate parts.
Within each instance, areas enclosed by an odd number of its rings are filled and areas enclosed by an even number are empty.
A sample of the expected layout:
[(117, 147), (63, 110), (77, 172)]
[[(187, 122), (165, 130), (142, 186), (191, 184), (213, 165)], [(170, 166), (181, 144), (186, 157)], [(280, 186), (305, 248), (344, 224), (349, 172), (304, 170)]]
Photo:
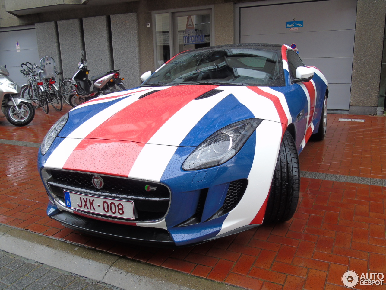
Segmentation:
[(92, 235), (161, 246), (289, 220), (298, 154), (326, 131), (323, 74), (276, 44), (185, 51), (150, 74), (49, 130), (38, 160), (47, 214)]

